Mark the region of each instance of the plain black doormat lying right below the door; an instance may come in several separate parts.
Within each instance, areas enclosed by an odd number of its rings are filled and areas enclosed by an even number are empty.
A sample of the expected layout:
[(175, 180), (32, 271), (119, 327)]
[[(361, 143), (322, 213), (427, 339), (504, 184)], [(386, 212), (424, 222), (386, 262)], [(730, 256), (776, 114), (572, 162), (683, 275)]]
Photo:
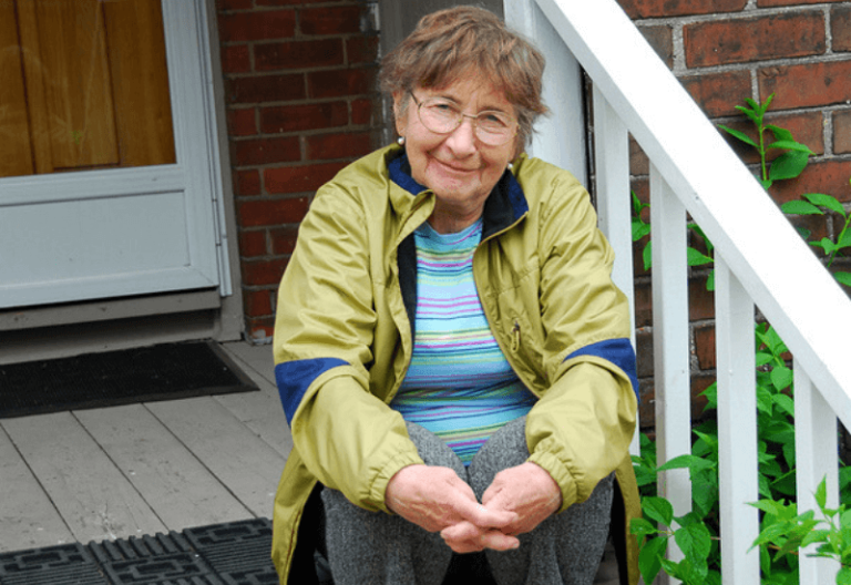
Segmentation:
[(257, 390), (213, 342), (0, 366), (0, 418)]

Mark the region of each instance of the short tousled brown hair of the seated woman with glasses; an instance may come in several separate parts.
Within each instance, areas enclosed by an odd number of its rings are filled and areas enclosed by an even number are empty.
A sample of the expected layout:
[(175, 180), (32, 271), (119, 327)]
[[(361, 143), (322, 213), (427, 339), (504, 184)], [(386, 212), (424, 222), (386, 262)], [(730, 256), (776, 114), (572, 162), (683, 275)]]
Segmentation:
[(461, 6), (427, 14), (385, 57), (380, 81), (381, 89), (393, 94), (444, 88), (476, 73), (514, 105), (522, 148), (532, 138), (537, 116), (547, 112), (541, 98), (544, 57), (493, 12)]

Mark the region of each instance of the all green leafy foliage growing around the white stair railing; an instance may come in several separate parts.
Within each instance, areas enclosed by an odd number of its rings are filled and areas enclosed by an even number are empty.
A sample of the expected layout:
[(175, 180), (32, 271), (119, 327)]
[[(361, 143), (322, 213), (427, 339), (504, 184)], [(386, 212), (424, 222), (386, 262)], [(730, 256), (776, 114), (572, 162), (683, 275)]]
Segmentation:
[[(766, 124), (766, 112), (773, 95), (765, 103), (746, 100), (747, 106), (738, 106), (756, 126), (757, 138), (727, 126), (721, 130), (753, 147), (760, 157), (759, 179), (765, 188), (776, 181), (794, 178), (806, 168), (812, 151), (797, 142), (792, 133), (776, 125)], [(773, 141), (767, 141), (768, 134)], [(781, 154), (769, 162), (770, 151)], [(642, 214), (648, 204), (633, 197), (633, 240), (650, 235), (650, 225)], [(839, 256), (851, 249), (851, 214), (832, 196), (823, 194), (803, 195), (801, 201), (789, 202), (782, 207), (789, 215), (823, 215), (834, 213), (842, 218), (842, 228), (835, 230), (835, 238), (823, 237), (811, 245), (827, 255), (828, 267)], [(699, 226), (688, 228), (703, 239), (706, 254), (696, 248), (688, 249), (689, 266), (705, 266), (712, 263), (714, 247)], [(804, 239), (811, 234), (802, 230)], [(652, 242), (643, 252), (645, 269), (652, 264)], [(835, 278), (851, 286), (851, 273), (835, 273)], [(714, 289), (714, 271), (707, 288)], [(793, 502), (794, 485), (794, 403), (793, 373), (788, 366), (788, 349), (777, 331), (768, 324), (757, 324), (756, 341), (756, 390), (758, 420), (759, 493), (762, 500), (755, 504), (763, 512), (762, 533), (755, 543), (760, 546), (762, 583), (791, 585), (798, 583), (798, 556), (790, 554), (799, 546), (820, 543), (818, 554), (834, 556), (843, 563), (837, 583), (851, 585), (851, 572), (844, 563), (851, 560), (851, 511), (844, 507), (828, 510), (821, 503), (823, 520), (814, 520), (811, 512), (798, 515)], [(679, 578), (684, 584), (720, 584), (720, 552), (718, 546), (719, 501), (718, 501), (718, 429), (711, 411), (717, 409), (716, 384), (703, 394), (707, 399), (709, 419), (695, 425), (691, 453), (681, 455), (657, 466), (655, 444), (642, 435), (642, 454), (633, 458), (636, 478), (642, 492), (643, 519), (630, 527), (639, 542), (639, 568), (645, 583), (652, 583), (660, 571)], [(684, 516), (674, 516), (673, 507), (656, 494), (657, 473), (669, 469), (688, 469), (693, 485), (693, 511)], [(840, 469), (840, 492), (845, 496), (851, 490), (851, 468)], [(817, 499), (820, 497), (817, 494)], [(820, 501), (822, 502), (822, 501)], [(835, 519), (840, 519), (837, 525)], [(826, 523), (827, 527), (821, 527)], [(683, 560), (675, 563), (665, 558), (668, 541), (674, 538)], [(770, 551), (776, 551), (771, 554)], [(840, 581), (847, 579), (847, 581)]]

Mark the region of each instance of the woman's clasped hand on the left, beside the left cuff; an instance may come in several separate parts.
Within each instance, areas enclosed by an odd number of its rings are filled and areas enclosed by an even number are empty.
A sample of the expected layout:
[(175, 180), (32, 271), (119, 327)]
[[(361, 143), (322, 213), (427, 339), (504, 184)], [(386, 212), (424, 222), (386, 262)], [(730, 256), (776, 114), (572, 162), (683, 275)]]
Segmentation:
[(469, 522), (481, 531), (493, 532), (488, 542), (491, 547), (502, 546), (496, 550), (511, 548), (516, 541), (506, 537), (501, 528), (513, 525), (517, 515), (479, 504), (473, 490), (449, 468), (402, 468), (387, 484), (385, 501), (392, 512), (429, 532)]

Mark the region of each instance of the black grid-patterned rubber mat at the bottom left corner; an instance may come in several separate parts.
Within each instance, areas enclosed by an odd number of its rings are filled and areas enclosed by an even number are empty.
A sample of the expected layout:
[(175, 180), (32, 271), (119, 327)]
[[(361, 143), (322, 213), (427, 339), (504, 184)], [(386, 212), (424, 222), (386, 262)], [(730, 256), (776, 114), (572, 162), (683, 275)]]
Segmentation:
[(277, 585), (271, 522), (0, 554), (0, 585)]

